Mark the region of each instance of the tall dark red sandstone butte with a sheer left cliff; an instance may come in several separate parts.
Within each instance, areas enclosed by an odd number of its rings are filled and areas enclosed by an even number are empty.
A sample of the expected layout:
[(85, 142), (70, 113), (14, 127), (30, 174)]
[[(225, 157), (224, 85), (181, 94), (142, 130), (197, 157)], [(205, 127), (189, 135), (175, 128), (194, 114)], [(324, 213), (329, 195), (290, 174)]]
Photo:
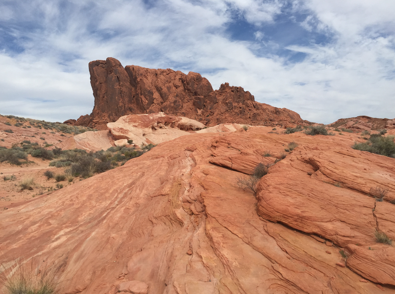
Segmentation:
[(94, 107), (90, 115), (66, 124), (107, 129), (124, 115), (164, 112), (198, 120), (205, 126), (238, 123), (267, 126), (310, 124), (286, 108), (261, 104), (242, 87), (224, 83), (213, 90), (196, 72), (184, 74), (172, 69), (123, 67), (112, 57), (89, 63)]

